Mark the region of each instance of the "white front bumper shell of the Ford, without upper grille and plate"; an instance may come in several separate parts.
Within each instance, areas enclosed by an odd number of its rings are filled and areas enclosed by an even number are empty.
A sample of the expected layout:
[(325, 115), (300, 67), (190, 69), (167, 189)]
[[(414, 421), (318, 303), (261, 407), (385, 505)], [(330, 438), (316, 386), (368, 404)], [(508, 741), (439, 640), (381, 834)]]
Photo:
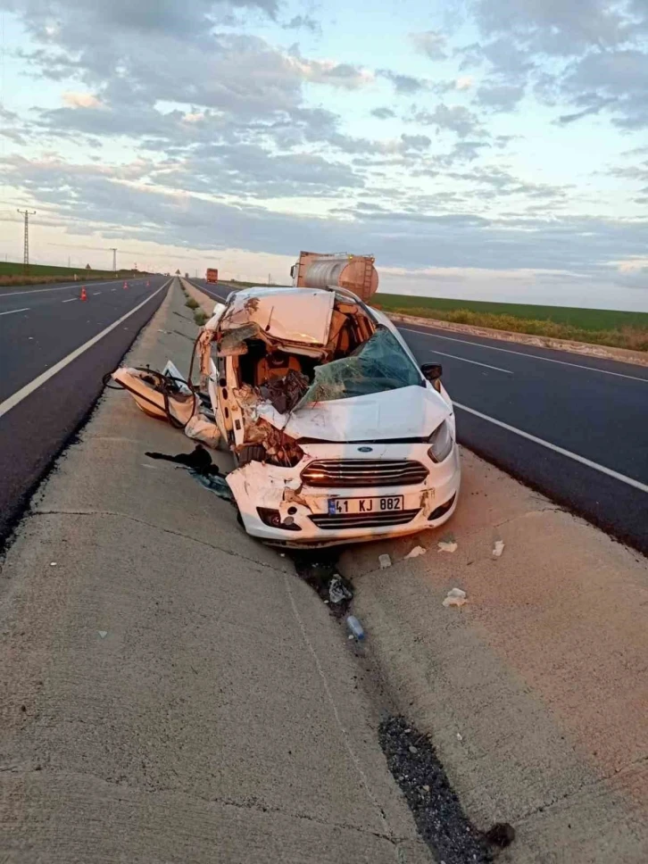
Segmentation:
[[(304, 448), (305, 449), (305, 448)], [(312, 461), (359, 460), (357, 445), (311, 444), (308, 453), (294, 468), (279, 468), (262, 462), (249, 462), (228, 475), (245, 530), (251, 536), (287, 546), (333, 545), (377, 540), (387, 536), (416, 534), (437, 528), (450, 519), (459, 495), (461, 467), (456, 444), (440, 464), (428, 457), (428, 444), (374, 445), (366, 458), (375, 461), (418, 461), (428, 470), (423, 482), (383, 486), (307, 486), (302, 472)], [(332, 498), (380, 498), (403, 495), (403, 510), (375, 519), (332, 517), (328, 502)], [(262, 510), (266, 521), (262, 519)], [(267, 524), (268, 512), (278, 513), (277, 525)], [(440, 515), (433, 517), (436, 512)], [(287, 526), (290, 528), (287, 528)], [(347, 527), (348, 526), (348, 527)]]

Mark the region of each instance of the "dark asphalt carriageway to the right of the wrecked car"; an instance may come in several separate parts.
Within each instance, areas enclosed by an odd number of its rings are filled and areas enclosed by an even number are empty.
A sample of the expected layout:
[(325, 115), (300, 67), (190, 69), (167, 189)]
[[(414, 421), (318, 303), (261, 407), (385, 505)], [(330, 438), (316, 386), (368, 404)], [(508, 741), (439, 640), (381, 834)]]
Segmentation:
[[(192, 281), (214, 299), (230, 290)], [(461, 444), (648, 554), (648, 369), (400, 329), (421, 363), (443, 364)]]

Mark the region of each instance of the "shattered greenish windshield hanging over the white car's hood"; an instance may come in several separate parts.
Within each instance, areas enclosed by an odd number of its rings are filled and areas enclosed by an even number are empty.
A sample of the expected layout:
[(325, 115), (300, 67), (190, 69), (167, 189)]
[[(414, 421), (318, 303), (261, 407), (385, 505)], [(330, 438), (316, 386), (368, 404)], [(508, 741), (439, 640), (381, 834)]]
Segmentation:
[(312, 385), (297, 408), (315, 402), (350, 399), (421, 383), (420, 371), (386, 327), (344, 357), (315, 367)]

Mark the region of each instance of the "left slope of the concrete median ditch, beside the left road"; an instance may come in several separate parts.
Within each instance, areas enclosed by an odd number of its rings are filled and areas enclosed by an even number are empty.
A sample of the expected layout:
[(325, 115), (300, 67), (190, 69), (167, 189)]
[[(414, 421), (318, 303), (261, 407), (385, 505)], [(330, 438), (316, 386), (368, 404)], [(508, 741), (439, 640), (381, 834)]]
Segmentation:
[[(130, 362), (185, 366), (182, 303), (176, 286)], [(108, 392), (7, 554), (0, 860), (429, 861), (326, 606), (144, 456), (192, 446)]]

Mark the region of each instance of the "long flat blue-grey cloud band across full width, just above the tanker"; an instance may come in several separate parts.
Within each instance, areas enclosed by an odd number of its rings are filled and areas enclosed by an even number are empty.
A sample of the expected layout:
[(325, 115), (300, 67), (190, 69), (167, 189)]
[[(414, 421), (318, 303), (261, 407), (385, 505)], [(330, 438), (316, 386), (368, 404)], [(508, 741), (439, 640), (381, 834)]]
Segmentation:
[(421, 213), (415, 199), (405, 205), (409, 209), (392, 204), (383, 212), (345, 213), (338, 220), (155, 190), (142, 182), (152, 170), (147, 162), (124, 166), (119, 176), (110, 166), (29, 162), (18, 156), (8, 157), (0, 167), (12, 186), (37, 195), (44, 207), (55, 206), (68, 231), (83, 228), (104, 237), (128, 235), (132, 241), (187, 245), (210, 253), (230, 248), (294, 255), (297, 245), (355, 248), (378, 253), (385, 267), (429, 267), (432, 256), (440, 268), (565, 270), (574, 278), (609, 284), (611, 262), (645, 256), (648, 231), (647, 220)]

